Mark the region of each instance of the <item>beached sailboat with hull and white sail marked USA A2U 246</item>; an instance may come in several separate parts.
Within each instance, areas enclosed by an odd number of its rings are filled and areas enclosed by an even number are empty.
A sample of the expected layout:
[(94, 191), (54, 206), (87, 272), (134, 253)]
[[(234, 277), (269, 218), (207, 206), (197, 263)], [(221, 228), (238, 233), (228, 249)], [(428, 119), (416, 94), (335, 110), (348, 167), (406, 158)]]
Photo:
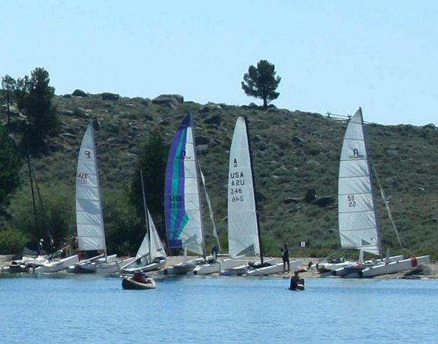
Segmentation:
[[(268, 275), (283, 271), (282, 263), (265, 261), (261, 249), (252, 158), (247, 120), (238, 117), (231, 141), (228, 165), (228, 255), (233, 259), (256, 259), (259, 262), (221, 270), (221, 275)], [(296, 268), (301, 261), (290, 263)]]

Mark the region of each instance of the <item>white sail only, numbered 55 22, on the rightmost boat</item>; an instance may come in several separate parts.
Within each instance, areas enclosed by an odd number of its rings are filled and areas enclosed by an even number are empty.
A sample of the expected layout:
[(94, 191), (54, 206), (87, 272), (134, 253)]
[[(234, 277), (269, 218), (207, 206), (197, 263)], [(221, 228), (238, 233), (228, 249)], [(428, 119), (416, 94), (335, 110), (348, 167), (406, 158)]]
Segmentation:
[(338, 178), (338, 225), (343, 249), (381, 254), (362, 109), (350, 118), (343, 139)]

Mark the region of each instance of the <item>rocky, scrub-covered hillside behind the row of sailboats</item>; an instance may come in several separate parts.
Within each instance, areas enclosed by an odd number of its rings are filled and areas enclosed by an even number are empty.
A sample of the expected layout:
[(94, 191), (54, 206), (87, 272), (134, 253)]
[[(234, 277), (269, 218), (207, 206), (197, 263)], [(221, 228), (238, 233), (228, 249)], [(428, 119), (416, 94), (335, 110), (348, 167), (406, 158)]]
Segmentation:
[[(53, 102), (62, 122), (61, 131), (48, 140), (46, 152), (32, 156), (39, 183), (64, 190), (64, 197), (71, 198), (72, 205), (78, 146), (90, 120), (99, 121), (101, 126), (95, 134), (105, 196), (109, 191), (128, 188), (137, 151), (149, 133), (158, 130), (170, 143), (178, 123), (191, 111), (200, 165), (218, 231), (225, 242), (228, 149), (235, 119), (247, 116), (254, 178), (259, 191), (261, 231), (267, 252), (279, 253), (282, 242), (288, 242), (292, 254), (296, 255), (321, 255), (339, 246), (336, 192), (345, 121), (317, 113), (276, 109), (275, 106), (262, 111), (254, 105), (203, 105), (181, 102), (182, 99), (156, 104), (143, 98), (104, 98), (108, 97), (56, 96)], [(351, 109), (352, 114), (355, 110)], [(4, 107), (1, 111), (6, 115)], [(21, 120), (18, 114), (13, 116), (14, 123)], [(435, 170), (438, 166), (438, 130), (433, 125), (373, 123), (367, 125), (367, 133), (369, 154), (390, 200), (404, 247), (416, 252), (435, 252), (438, 249), (438, 177)], [(27, 179), (26, 169), (23, 166), (24, 180)], [(304, 196), (311, 188), (315, 189), (316, 199), (306, 202)], [(377, 185), (375, 189), (378, 191)], [(399, 245), (380, 195), (376, 195), (376, 200), (383, 247), (397, 249)], [(211, 233), (206, 213), (206, 231)], [(71, 222), (74, 228), (74, 219)], [(158, 226), (162, 225), (158, 223)], [(299, 248), (300, 242), (306, 242), (306, 249)]]

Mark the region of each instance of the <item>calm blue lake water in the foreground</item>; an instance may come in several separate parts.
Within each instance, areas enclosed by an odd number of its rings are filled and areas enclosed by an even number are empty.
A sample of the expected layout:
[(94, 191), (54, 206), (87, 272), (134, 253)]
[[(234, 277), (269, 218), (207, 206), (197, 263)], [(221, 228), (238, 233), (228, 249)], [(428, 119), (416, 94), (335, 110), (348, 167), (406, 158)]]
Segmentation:
[(437, 280), (0, 275), (1, 343), (437, 343)]

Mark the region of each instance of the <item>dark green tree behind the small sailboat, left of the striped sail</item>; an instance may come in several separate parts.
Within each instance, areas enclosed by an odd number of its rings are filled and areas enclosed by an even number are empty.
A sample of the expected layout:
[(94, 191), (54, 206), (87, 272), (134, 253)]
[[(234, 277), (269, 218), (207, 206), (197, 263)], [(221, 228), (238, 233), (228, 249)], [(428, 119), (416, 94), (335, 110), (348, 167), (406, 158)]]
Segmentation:
[[(142, 171), (146, 205), (158, 228), (163, 228), (164, 178), (168, 151), (169, 149), (160, 134), (158, 132), (151, 133), (138, 155), (137, 167), (132, 179), (130, 199), (137, 209), (138, 216), (144, 222), (142, 181), (140, 178), (140, 171)], [(163, 233), (163, 231), (160, 232)], [(163, 236), (161, 237), (163, 238)]]

